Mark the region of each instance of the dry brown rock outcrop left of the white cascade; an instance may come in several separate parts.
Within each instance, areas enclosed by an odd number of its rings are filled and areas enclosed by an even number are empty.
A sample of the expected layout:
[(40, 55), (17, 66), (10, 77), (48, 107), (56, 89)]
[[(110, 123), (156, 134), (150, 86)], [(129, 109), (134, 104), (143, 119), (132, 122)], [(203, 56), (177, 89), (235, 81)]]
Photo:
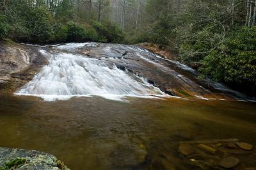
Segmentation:
[(0, 40), (0, 89), (15, 91), (47, 63), (47, 58), (32, 45)]

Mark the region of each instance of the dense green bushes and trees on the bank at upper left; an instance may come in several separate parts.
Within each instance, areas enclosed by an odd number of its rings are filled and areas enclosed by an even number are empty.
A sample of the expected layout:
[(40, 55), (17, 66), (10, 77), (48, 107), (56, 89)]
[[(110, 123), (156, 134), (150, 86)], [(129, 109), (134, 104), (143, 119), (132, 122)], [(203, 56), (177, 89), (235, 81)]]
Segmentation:
[(0, 1), (0, 38), (31, 43), (122, 41), (116, 24), (105, 19), (95, 26), (97, 13), (84, 13), (80, 5), (72, 0)]

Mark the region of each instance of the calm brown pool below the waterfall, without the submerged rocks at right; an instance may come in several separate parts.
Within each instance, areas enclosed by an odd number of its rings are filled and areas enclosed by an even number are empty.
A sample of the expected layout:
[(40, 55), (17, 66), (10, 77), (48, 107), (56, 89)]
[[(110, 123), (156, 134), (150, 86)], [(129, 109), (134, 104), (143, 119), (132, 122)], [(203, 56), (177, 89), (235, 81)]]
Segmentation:
[(100, 97), (44, 102), (0, 94), (0, 146), (56, 155), (70, 169), (189, 169), (179, 141), (239, 138), (256, 144), (249, 102)]

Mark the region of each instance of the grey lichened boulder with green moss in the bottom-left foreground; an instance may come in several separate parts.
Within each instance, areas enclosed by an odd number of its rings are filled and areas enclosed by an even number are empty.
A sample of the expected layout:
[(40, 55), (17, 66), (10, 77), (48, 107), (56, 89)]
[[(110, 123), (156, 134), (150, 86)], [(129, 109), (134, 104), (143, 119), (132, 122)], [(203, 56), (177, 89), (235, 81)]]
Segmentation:
[(65, 169), (53, 155), (34, 150), (0, 148), (0, 169)]

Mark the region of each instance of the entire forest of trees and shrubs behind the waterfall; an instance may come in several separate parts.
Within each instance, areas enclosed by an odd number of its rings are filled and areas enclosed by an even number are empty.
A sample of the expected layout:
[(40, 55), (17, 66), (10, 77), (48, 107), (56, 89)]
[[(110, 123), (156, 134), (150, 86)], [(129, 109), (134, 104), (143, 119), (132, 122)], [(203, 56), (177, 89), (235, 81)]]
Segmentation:
[(157, 43), (176, 59), (256, 94), (256, 1), (1, 0), (0, 37), (23, 43)]

